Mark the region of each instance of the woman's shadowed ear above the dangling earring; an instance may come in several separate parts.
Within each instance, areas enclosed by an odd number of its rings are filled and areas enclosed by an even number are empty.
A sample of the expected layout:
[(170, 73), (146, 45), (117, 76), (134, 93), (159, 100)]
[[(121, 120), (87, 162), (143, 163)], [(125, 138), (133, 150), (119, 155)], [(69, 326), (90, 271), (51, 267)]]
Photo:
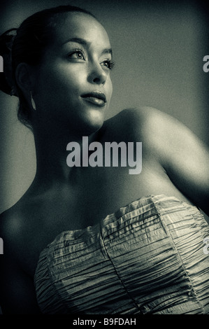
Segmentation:
[(29, 66), (29, 64), (18, 64), (15, 71), (15, 78), (17, 85), (18, 87), (20, 87), (22, 92), (27, 92), (28, 94), (28, 92), (33, 89), (31, 67)]

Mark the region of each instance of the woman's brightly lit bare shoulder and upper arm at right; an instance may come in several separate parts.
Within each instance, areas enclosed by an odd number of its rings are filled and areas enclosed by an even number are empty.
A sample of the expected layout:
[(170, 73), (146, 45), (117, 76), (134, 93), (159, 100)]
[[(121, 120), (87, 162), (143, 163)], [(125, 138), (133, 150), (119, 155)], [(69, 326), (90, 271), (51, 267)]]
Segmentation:
[(177, 119), (156, 109), (136, 110), (135, 127), (137, 122), (143, 130), (139, 135), (143, 134), (172, 183), (209, 215), (208, 147)]

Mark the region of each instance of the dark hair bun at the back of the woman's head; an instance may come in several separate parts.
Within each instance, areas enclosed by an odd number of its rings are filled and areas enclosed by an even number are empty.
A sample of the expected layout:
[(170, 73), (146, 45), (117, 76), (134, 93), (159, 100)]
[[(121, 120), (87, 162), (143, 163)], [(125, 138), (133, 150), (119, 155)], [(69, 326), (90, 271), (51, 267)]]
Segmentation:
[[(0, 90), (12, 94), (14, 82), (12, 73), (11, 50), (17, 29), (8, 29), (0, 36), (0, 55), (3, 57), (3, 72), (0, 73)], [(12, 33), (13, 32), (13, 33)]]

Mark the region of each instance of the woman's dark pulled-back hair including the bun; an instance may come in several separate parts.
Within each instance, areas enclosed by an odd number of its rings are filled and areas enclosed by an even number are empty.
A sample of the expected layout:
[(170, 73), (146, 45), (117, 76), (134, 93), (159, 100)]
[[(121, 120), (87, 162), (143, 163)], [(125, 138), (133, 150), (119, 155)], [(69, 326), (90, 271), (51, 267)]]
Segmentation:
[(15, 82), (15, 70), (17, 65), (23, 62), (30, 65), (41, 62), (45, 48), (52, 42), (52, 28), (56, 27), (59, 15), (68, 12), (86, 13), (95, 18), (92, 13), (82, 8), (58, 6), (34, 13), (24, 20), (18, 29), (9, 29), (0, 36), (0, 55), (3, 57), (0, 90), (19, 97), (17, 117), (30, 129), (31, 112)]

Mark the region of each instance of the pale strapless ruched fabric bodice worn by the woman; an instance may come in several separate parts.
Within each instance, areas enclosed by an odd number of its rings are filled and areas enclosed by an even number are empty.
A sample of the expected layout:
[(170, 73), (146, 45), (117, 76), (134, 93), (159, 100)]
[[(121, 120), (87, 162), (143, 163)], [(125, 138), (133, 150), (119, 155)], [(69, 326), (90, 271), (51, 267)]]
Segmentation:
[(209, 314), (209, 228), (194, 206), (141, 197), (59, 234), (34, 276), (43, 314)]

